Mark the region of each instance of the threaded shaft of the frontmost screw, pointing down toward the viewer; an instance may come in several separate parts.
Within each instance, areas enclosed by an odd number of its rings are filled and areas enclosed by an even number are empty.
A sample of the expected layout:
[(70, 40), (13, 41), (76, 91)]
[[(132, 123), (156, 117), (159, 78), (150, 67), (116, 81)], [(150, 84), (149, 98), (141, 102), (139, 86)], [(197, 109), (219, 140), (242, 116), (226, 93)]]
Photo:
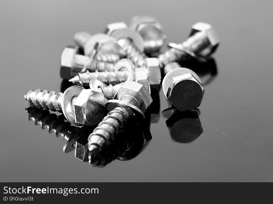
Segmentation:
[(124, 107), (115, 107), (93, 130), (88, 137), (88, 149), (102, 149), (117, 139), (119, 132), (123, 130), (130, 114)]

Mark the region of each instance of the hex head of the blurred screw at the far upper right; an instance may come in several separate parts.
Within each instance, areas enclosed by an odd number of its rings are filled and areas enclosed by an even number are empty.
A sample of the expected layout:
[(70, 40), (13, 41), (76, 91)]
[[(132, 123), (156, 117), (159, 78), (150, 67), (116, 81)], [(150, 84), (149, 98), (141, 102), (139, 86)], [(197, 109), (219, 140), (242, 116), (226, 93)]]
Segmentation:
[(202, 50), (198, 54), (200, 56), (207, 57), (216, 51), (216, 49), (220, 43), (220, 39), (219, 39), (216, 31), (213, 29), (212, 25), (210, 25), (208, 23), (197, 22), (194, 25), (192, 25), (191, 31), (190, 31), (190, 36), (194, 35), (197, 32), (205, 32), (206, 33), (206, 36), (207, 36), (208, 41), (210, 43), (210, 46), (208, 46), (207, 48), (205, 48), (204, 50)]

